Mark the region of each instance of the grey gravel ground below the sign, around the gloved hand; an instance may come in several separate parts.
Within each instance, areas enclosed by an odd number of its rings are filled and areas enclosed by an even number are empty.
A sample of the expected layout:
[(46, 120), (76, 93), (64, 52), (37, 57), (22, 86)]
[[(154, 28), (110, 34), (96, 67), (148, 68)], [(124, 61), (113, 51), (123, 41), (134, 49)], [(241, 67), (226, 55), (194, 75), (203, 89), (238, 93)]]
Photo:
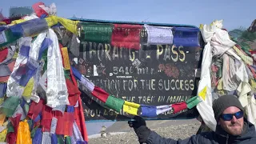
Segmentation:
[[(159, 135), (165, 138), (173, 138), (177, 140), (178, 138), (185, 139), (193, 134), (196, 134), (200, 124), (186, 124), (178, 126), (165, 126), (156, 129), (151, 129), (157, 132)], [(136, 144), (138, 142), (137, 135), (134, 130), (131, 129), (130, 132), (126, 134), (110, 135), (107, 138), (90, 138), (89, 144), (103, 144), (103, 143), (113, 143), (113, 144)]]

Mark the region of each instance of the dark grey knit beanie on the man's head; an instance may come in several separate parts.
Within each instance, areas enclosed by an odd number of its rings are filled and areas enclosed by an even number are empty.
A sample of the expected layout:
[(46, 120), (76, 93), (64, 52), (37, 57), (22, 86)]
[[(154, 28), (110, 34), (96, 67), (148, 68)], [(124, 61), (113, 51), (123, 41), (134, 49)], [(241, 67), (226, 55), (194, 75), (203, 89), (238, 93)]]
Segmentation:
[(213, 102), (214, 117), (217, 122), (222, 112), (230, 106), (236, 106), (240, 110), (244, 111), (241, 102), (234, 95), (223, 95)]

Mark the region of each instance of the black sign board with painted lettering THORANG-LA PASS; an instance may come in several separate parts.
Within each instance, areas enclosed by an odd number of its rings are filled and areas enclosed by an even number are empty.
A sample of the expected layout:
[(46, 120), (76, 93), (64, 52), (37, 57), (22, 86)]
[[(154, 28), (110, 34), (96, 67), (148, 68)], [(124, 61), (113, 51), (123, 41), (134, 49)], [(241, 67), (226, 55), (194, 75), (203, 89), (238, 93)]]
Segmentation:
[[(104, 30), (103, 33), (106, 33)], [(93, 34), (91, 31), (90, 33)], [(184, 34), (189, 36), (188, 32)], [(186, 39), (188, 37), (184, 34), (176, 34), (179, 38), (178, 45), (148, 45), (148, 34), (142, 29), (139, 49), (118, 47), (104, 42), (81, 41), (79, 56), (69, 53), (70, 63), (84, 77), (90, 79), (94, 86), (126, 102), (148, 106), (186, 102), (197, 94), (199, 78), (196, 75), (201, 66), (202, 40), (199, 38), (200, 34), (196, 34), (194, 39), (198, 42), (191, 42), (192, 46), (182, 46), (182, 36)], [(122, 110), (118, 114), (114, 110), (105, 109), (104, 103), (90, 94), (91, 90), (87, 90), (79, 82), (78, 86), (82, 91), (86, 121), (130, 119)], [(194, 118), (198, 115), (196, 109), (182, 110), (178, 114), (173, 112), (170, 109), (159, 114), (158, 118)]]

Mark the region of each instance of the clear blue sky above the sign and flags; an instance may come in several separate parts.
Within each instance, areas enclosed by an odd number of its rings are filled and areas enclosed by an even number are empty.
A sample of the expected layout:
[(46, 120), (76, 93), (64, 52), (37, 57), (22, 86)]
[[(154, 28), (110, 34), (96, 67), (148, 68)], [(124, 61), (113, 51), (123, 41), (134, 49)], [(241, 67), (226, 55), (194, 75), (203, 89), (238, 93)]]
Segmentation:
[[(33, 0), (1, 0), (0, 10), (8, 16), (10, 6), (32, 6)], [(42, 0), (55, 2), (58, 16), (159, 23), (210, 24), (224, 19), (227, 30), (250, 26), (255, 14), (255, 0)]]

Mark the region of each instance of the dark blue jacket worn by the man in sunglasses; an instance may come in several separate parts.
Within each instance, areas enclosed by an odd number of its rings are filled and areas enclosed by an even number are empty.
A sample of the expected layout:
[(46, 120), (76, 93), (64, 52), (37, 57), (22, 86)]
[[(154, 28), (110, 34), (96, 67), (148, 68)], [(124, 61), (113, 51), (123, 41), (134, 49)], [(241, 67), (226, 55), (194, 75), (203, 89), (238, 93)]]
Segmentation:
[(243, 133), (239, 136), (231, 136), (222, 130), (220, 126), (217, 126), (216, 132), (206, 132), (202, 134), (193, 135), (190, 138), (184, 140), (178, 139), (175, 141), (171, 138), (162, 138), (160, 135), (151, 131), (150, 136), (146, 140), (147, 144), (256, 144), (256, 132), (252, 123), (245, 119)]

